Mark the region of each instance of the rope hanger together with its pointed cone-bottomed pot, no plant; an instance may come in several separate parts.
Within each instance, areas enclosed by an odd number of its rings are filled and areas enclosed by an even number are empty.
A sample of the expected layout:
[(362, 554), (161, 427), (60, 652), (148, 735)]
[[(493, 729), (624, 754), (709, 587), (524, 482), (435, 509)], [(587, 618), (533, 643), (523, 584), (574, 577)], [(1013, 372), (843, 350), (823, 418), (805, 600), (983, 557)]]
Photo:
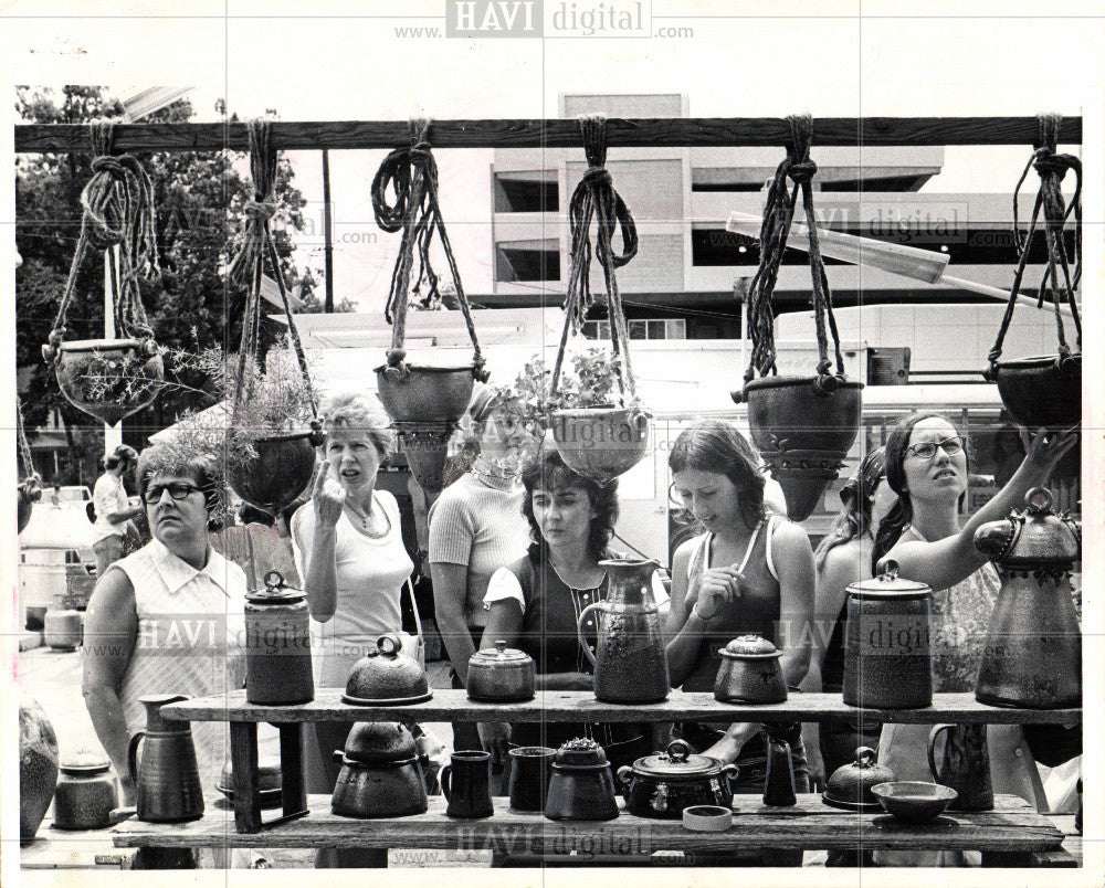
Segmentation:
[[(414, 480), (433, 498), (442, 488), (449, 438), (472, 399), (475, 380), (487, 381), (486, 363), (480, 351), (472, 308), (453, 250), (445, 232), (438, 201), (438, 163), (429, 142), (430, 123), (410, 121), (410, 146), (397, 148), (385, 158), (372, 180), (372, 208), (377, 224), (388, 233), (402, 232), (399, 257), (391, 274), (385, 317), (391, 325), (391, 348), (387, 362), (376, 368), (383, 409), (392, 421)], [(389, 202), (388, 189), (394, 193)], [(423, 305), (440, 302), (439, 275), (430, 258), (434, 235), (441, 241), (449, 274), (456, 290), (461, 313), (472, 340), (472, 363), (436, 367), (408, 363), (404, 340), (410, 295), (423, 283)], [(414, 263), (418, 269), (413, 287)]]

